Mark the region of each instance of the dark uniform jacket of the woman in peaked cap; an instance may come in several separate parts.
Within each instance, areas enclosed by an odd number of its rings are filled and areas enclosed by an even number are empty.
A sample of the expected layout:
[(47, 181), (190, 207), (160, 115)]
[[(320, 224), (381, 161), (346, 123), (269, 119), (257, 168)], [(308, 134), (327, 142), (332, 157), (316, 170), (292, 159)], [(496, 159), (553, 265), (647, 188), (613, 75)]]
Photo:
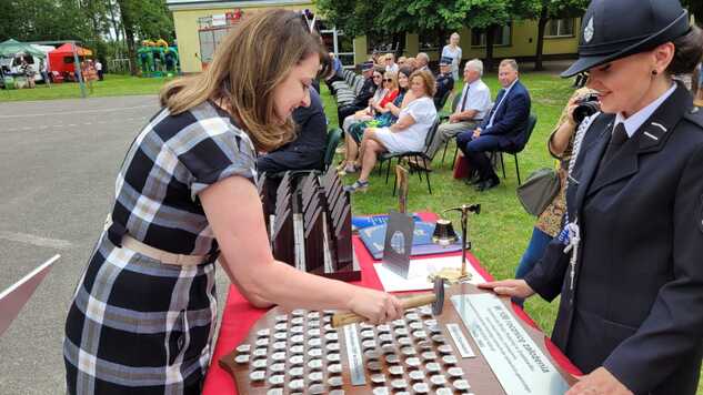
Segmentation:
[(703, 335), (703, 111), (679, 84), (606, 165), (615, 117), (599, 115), (570, 176), (581, 243), (555, 239), (525, 276), (561, 294), (554, 343), (590, 373), (604, 366), (635, 394), (695, 394)]

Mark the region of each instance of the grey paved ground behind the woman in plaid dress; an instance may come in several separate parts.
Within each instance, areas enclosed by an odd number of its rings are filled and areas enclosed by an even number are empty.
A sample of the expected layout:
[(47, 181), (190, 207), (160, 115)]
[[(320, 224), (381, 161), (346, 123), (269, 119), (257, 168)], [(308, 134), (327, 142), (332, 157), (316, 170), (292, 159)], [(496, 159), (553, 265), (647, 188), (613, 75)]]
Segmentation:
[[(0, 393), (64, 394), (70, 297), (123, 155), (157, 109), (155, 97), (0, 103), (0, 292), (61, 254), (0, 337)], [(220, 276), (220, 301), (225, 284)]]

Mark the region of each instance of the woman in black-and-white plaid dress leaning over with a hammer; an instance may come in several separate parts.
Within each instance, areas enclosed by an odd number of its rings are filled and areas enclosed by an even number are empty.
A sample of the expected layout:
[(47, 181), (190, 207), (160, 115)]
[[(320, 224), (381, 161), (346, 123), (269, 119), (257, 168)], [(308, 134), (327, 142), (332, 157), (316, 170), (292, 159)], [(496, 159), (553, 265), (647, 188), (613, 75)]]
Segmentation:
[(255, 152), (294, 136), (324, 54), (299, 13), (245, 19), (209, 68), (168, 84), (139, 133), (66, 323), (69, 394), (199, 394), (212, 354), (214, 262), (259, 307), (395, 320), (398, 298), (274, 261)]

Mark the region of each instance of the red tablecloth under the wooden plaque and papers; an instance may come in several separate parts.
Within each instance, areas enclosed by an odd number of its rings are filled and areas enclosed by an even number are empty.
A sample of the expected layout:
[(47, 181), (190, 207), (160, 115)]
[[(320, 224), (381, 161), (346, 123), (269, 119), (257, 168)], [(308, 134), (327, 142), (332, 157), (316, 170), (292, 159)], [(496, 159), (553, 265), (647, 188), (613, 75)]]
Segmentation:
[[(433, 213), (420, 213), (420, 217), (423, 221), (433, 222), (436, 220), (436, 215)], [(370, 288), (382, 290), (381, 281), (375, 274), (373, 263), (375, 262), (369, 251), (363, 245), (358, 236), (353, 239), (354, 250), (356, 252), (356, 259), (361, 266), (361, 281), (353, 282), (353, 284), (366, 286)], [(449, 253), (443, 255), (428, 255), (433, 256), (446, 256), (446, 255), (460, 255), (461, 253)], [(473, 265), (473, 267), (486, 280), (492, 281), (493, 276), (489, 274), (471, 253), (466, 254), (466, 259)], [(516, 305), (513, 305), (515, 314), (520, 316), (525, 323), (538, 327), (536, 324), (528, 316), (528, 314)], [(244, 338), (249, 333), (249, 328), (267, 313), (267, 310), (252, 307), (249, 302), (237, 291), (235, 287), (230, 286), (227, 304), (222, 313), (222, 324), (220, 325), (220, 333), (214, 346), (214, 355), (212, 356), (212, 363), (205, 377), (205, 384), (203, 394), (205, 395), (233, 395), (237, 394), (237, 386), (232, 381), (232, 377), (220, 367), (218, 361), (223, 355), (230, 353), (234, 347)], [(569, 373), (580, 375), (579, 369), (571, 364), (571, 362), (561, 353), (559, 348), (549, 340), (544, 338), (545, 344), (554, 359)]]

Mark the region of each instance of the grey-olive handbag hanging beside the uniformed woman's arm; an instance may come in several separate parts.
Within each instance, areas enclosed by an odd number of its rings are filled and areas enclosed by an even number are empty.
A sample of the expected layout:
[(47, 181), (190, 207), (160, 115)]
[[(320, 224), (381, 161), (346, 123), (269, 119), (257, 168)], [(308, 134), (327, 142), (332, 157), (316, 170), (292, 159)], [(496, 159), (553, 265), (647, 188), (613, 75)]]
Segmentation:
[(518, 199), (528, 213), (539, 216), (554, 201), (560, 188), (556, 171), (543, 168), (532, 172), (528, 181), (518, 186)]

